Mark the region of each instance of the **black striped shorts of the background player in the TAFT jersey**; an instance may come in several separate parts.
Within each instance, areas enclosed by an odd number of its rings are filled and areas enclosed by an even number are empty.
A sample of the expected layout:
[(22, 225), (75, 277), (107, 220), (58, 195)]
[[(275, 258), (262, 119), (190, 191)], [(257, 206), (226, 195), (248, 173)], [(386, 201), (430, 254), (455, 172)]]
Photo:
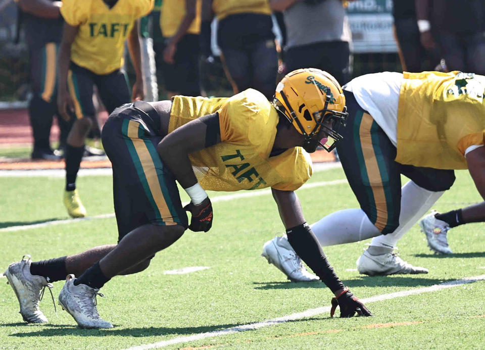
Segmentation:
[(98, 87), (101, 101), (108, 113), (118, 106), (131, 101), (126, 73), (121, 69), (106, 75), (95, 74), (89, 69), (80, 67), (74, 62), (69, 66), (67, 84), (77, 119), (95, 116), (92, 103), (93, 85)]

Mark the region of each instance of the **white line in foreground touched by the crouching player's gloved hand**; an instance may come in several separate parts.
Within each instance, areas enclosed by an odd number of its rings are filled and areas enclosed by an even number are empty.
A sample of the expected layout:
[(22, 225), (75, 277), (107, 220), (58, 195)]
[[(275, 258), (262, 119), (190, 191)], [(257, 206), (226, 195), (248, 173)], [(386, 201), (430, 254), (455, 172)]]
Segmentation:
[[(383, 301), (383, 300), (387, 300), (387, 299), (393, 299), (393, 298), (402, 297), (402, 296), (434, 292), (434, 291), (438, 291), (438, 290), (441, 290), (441, 289), (456, 287), (456, 286), (459, 286), (459, 285), (462, 285), (462, 284), (473, 283), (473, 282), (483, 281), (483, 280), (485, 280), (485, 275), (479, 275), (479, 276), (474, 276), (474, 277), (466, 277), (466, 278), (455, 280), (455, 281), (449, 281), (449, 282), (444, 282), (444, 283), (441, 283), (441, 284), (435, 284), (435, 285), (432, 285), (432, 286), (429, 286), (429, 287), (423, 287), (423, 288), (417, 288), (417, 289), (411, 289), (411, 290), (403, 290), (403, 291), (400, 291), (400, 292), (389, 293), (389, 294), (381, 294), (381, 295), (376, 295), (376, 296), (372, 296), (372, 297), (368, 297), (368, 298), (363, 298), (363, 299), (360, 299), (360, 300), (364, 304), (367, 304), (367, 303), (379, 302), (379, 301)], [(273, 325), (277, 325), (277, 324), (280, 324), (280, 323), (299, 320), (299, 319), (302, 319), (302, 318), (308, 318), (308, 317), (320, 315), (320, 314), (327, 313), (327, 312), (330, 312), (329, 306), (316, 308), (316, 309), (309, 309), (307, 311), (299, 312), (299, 313), (296, 313), (296, 314), (278, 317), (278, 318), (274, 318), (274, 319), (262, 321), (262, 322), (243, 324), (243, 325), (240, 325), (240, 326), (226, 328), (226, 329), (222, 329), (222, 330), (219, 330), (219, 331), (199, 333), (199, 334), (194, 334), (194, 335), (187, 335), (187, 336), (173, 338), (173, 339), (170, 339), (170, 340), (159, 341), (159, 342), (152, 343), (152, 344), (144, 344), (144, 345), (133, 346), (133, 347), (130, 347), (130, 348), (125, 349), (125, 350), (145, 350), (145, 349), (160, 348), (160, 347), (167, 346), (167, 345), (185, 343), (185, 342), (189, 342), (189, 341), (196, 341), (196, 340), (201, 340), (201, 339), (205, 339), (205, 338), (218, 337), (218, 336), (222, 336), (222, 335), (233, 334), (233, 333), (237, 333), (237, 332), (245, 332), (245, 331), (248, 331), (248, 330), (254, 330), (254, 329), (259, 329), (259, 328), (263, 328), (263, 327), (273, 326)]]

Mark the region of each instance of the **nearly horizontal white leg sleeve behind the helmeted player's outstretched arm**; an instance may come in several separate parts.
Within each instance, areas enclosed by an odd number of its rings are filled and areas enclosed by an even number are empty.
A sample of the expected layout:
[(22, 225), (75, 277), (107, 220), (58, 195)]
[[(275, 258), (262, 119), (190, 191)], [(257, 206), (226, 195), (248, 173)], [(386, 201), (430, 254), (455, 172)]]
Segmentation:
[(340, 210), (320, 219), (311, 228), (322, 246), (357, 242), (380, 234), (362, 209)]

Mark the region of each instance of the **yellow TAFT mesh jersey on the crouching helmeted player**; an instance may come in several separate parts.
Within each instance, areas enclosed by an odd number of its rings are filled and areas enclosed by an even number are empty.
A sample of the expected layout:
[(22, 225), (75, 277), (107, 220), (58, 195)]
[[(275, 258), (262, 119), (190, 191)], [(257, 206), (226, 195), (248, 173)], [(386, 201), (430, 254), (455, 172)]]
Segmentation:
[(279, 117), (264, 95), (253, 89), (228, 98), (175, 96), (168, 132), (215, 112), (219, 113), (221, 142), (189, 155), (204, 189), (291, 191), (312, 176), (310, 156), (302, 147), (270, 157)]

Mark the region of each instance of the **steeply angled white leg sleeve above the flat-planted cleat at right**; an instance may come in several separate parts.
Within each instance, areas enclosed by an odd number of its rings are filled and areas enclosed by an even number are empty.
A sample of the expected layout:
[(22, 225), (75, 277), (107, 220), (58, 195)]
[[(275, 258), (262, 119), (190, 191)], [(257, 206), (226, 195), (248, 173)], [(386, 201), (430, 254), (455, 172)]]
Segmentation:
[(398, 240), (421, 218), (445, 191), (428, 191), (408, 181), (401, 189), (401, 213), (399, 226), (389, 234), (374, 237), (370, 245), (395, 248)]

